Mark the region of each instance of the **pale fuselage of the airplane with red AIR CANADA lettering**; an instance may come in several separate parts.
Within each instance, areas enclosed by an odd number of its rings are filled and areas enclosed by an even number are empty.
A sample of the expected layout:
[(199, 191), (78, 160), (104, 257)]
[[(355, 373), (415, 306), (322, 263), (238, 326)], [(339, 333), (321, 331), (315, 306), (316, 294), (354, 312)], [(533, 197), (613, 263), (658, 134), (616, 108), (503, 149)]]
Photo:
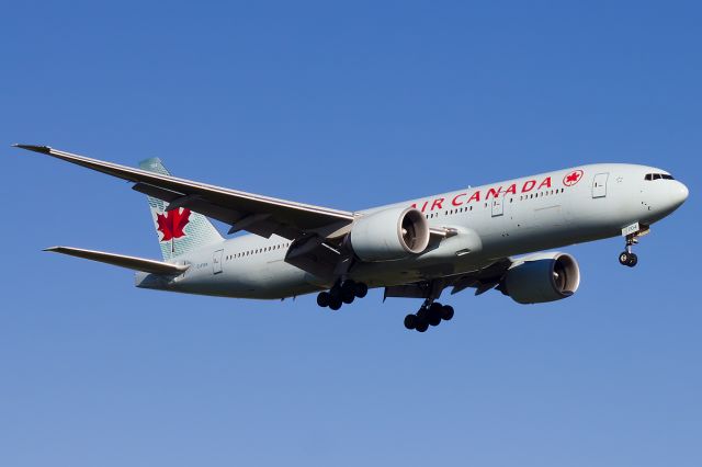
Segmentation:
[[(647, 174), (665, 174), (646, 180)], [(650, 226), (687, 198), (668, 172), (645, 166), (601, 163), (557, 170), (356, 213), (415, 206), (431, 227), (455, 235), (437, 248), (401, 260), (358, 262), (346, 278), (370, 287), (431, 281), (477, 271), (494, 261), (622, 235)], [(166, 280), (137, 273), (136, 285), (172, 292), (241, 298), (285, 298), (329, 288), (286, 263), (291, 241), (246, 235), (177, 259), (189, 264)]]

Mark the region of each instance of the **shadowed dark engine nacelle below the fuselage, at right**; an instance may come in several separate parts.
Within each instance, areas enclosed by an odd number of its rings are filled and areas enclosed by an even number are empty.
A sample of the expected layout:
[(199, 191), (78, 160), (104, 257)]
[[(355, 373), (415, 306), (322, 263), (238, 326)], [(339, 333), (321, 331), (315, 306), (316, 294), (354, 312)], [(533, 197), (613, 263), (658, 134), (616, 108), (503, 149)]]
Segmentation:
[(544, 253), (510, 267), (499, 288), (519, 304), (543, 304), (569, 297), (579, 285), (580, 269), (575, 258)]

